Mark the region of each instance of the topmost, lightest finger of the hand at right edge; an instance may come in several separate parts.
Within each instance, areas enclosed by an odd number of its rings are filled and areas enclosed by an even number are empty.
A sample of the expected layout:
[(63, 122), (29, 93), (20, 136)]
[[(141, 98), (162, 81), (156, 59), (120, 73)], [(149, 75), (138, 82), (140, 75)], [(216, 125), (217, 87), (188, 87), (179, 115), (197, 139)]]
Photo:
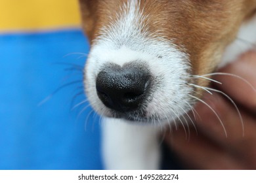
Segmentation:
[(231, 73), (244, 78), (243, 80), (236, 76), (215, 76), (215, 80), (223, 83), (218, 85), (218, 88), (238, 103), (256, 112), (256, 52), (251, 51), (244, 54), (238, 61), (227, 65), (219, 72)]

